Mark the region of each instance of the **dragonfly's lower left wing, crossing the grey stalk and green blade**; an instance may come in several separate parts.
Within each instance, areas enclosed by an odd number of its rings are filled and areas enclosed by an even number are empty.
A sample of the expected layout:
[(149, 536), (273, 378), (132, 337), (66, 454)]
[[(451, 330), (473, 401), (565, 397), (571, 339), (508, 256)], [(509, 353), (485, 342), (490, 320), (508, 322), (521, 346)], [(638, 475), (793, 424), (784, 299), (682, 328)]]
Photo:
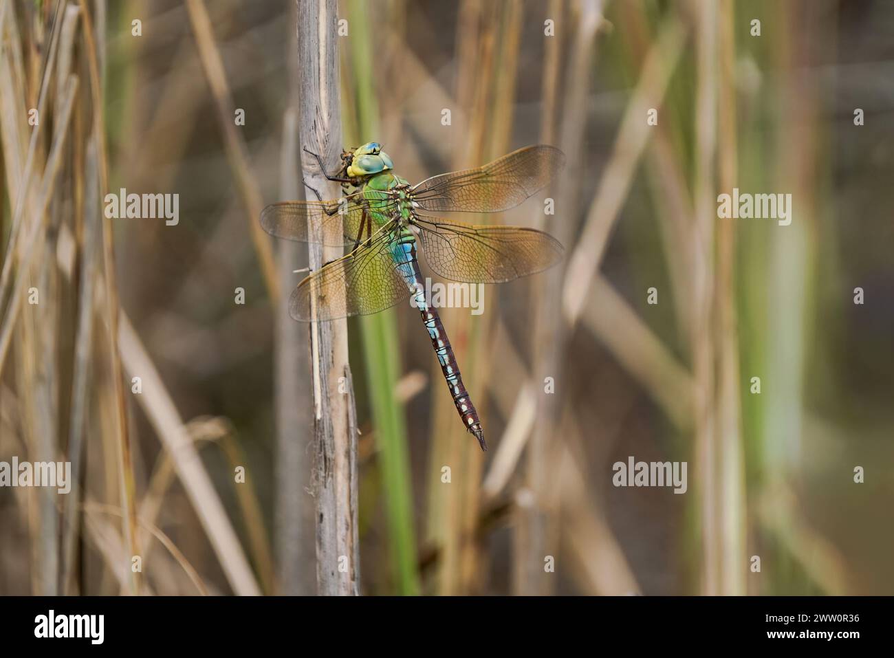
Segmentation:
[(393, 226), (386, 224), (367, 244), (310, 274), (291, 293), (289, 314), (302, 322), (365, 316), (408, 299), (392, 240)]

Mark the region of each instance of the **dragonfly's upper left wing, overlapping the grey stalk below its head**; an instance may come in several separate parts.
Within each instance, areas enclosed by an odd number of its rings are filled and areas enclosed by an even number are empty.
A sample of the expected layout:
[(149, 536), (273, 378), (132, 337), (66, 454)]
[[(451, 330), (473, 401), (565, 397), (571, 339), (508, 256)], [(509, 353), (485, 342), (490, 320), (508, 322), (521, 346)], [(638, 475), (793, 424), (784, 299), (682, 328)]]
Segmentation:
[[(391, 200), (376, 201), (375, 210), (390, 214)], [(364, 220), (367, 199), (361, 192), (331, 201), (283, 201), (261, 211), (261, 227), (277, 238), (316, 242), (329, 247), (353, 245), (361, 229), (368, 237)], [(319, 231), (311, 235), (311, 229)]]

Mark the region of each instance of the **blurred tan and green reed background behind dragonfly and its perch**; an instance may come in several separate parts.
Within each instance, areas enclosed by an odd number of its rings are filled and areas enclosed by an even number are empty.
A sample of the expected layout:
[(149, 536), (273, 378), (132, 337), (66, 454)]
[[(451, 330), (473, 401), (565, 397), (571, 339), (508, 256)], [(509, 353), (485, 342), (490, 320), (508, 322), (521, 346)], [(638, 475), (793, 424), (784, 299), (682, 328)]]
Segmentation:
[[(257, 221), (301, 193), (295, 12), (0, 5), (0, 460), (79, 483), (0, 488), (0, 594), (316, 591), (308, 330), (283, 302), (307, 250)], [(894, 4), (338, 14), (344, 146), (383, 142), (411, 182), (568, 156), (486, 218), (551, 232), (562, 265), (443, 309), (491, 451), (415, 311), (349, 323), (361, 591), (891, 594)], [(792, 224), (719, 220), (734, 187), (791, 193)], [(180, 223), (105, 218), (120, 188), (179, 193)], [(631, 455), (687, 461), (687, 493), (613, 487)]]

